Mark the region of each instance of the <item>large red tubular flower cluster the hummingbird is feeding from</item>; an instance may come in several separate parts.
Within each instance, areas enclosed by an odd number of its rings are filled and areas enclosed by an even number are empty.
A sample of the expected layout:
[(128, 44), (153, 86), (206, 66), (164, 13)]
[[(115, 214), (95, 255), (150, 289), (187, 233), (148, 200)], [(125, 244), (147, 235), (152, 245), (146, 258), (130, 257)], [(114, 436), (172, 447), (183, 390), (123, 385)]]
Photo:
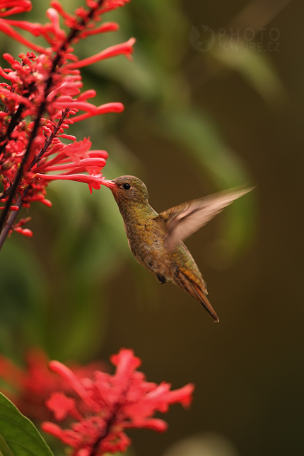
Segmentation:
[[(2, 219), (8, 211), (28, 207), (32, 201), (50, 206), (51, 202), (45, 198), (50, 180), (85, 182), (90, 191), (92, 187), (100, 188), (103, 180), (100, 172), (107, 152), (90, 151), (89, 139), (77, 142), (75, 136), (64, 131), (82, 119), (124, 109), (121, 103), (98, 107), (88, 103), (95, 91), (81, 93), (83, 84), (79, 68), (117, 54), (130, 58), (135, 40), (131, 38), (82, 61), (73, 54), (71, 45), (88, 35), (117, 30), (116, 23), (98, 25), (98, 21), (103, 13), (123, 6), (127, 1), (86, 0), (86, 7), (69, 14), (59, 1), (54, 0), (47, 10), (49, 22), (41, 25), (7, 18), (14, 13), (30, 11), (30, 1), (0, 0), (0, 30), (35, 51), (20, 54), (20, 61), (4, 54), (10, 68), (0, 68), (0, 76), (6, 81), (0, 83), (0, 100), (4, 105), (0, 112), (0, 180), (4, 187), (0, 201), (5, 204), (0, 207), (4, 209)], [(69, 33), (60, 28), (59, 16)], [(48, 47), (26, 40), (16, 28), (44, 37)], [(74, 117), (79, 110), (85, 113)], [(62, 140), (72, 142), (66, 144)], [(16, 214), (11, 214), (11, 219), (15, 218)], [(9, 225), (8, 221), (6, 225)], [(29, 230), (23, 230), (22, 225), (13, 225), (11, 221), (8, 229), (18, 228), (29, 235)], [(3, 226), (4, 220), (0, 221), (0, 229)]]

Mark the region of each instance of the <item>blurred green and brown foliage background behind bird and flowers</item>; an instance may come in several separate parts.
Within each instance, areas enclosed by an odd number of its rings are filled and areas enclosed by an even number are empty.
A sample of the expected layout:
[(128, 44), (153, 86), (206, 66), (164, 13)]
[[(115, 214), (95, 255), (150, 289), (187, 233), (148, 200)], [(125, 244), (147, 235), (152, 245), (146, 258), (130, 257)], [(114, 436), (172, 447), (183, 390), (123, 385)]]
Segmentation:
[[(33, 4), (26, 18), (44, 22), (47, 2)], [(107, 178), (137, 175), (157, 211), (257, 185), (186, 242), (218, 325), (136, 264), (105, 187), (52, 183), (52, 209), (30, 208), (33, 238), (14, 233), (1, 251), (1, 353), (22, 363), (42, 346), (85, 363), (124, 346), (148, 380), (195, 383), (166, 433), (129, 432), (134, 456), (304, 452), (303, 14), (301, 0), (132, 0), (105, 16), (119, 32), (76, 46), (87, 57), (137, 40), (133, 63), (83, 71), (94, 103), (124, 112), (69, 131), (109, 152)], [(4, 37), (0, 48), (24, 50)]]

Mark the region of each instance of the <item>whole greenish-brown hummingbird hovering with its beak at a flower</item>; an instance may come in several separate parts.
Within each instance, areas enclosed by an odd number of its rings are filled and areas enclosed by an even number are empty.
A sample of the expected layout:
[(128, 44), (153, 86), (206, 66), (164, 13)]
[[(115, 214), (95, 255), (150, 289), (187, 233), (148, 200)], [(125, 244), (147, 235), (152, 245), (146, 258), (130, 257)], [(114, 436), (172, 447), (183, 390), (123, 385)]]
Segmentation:
[(206, 297), (206, 283), (182, 240), (252, 188), (219, 192), (158, 214), (148, 204), (147, 187), (138, 177), (120, 176), (103, 180), (103, 185), (111, 189), (117, 202), (136, 260), (151, 271), (159, 283), (172, 281), (197, 299), (212, 320), (218, 322), (218, 315)]

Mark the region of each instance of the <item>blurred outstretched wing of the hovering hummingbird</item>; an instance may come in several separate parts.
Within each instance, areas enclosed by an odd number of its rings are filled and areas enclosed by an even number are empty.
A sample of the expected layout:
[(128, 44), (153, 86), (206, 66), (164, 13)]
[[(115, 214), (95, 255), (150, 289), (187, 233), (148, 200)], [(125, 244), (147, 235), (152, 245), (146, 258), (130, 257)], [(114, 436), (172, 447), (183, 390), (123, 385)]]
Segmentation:
[(160, 212), (158, 217), (166, 224), (165, 241), (168, 250), (173, 250), (178, 241), (188, 238), (201, 226), (206, 225), (224, 207), (250, 192), (252, 188), (216, 193)]

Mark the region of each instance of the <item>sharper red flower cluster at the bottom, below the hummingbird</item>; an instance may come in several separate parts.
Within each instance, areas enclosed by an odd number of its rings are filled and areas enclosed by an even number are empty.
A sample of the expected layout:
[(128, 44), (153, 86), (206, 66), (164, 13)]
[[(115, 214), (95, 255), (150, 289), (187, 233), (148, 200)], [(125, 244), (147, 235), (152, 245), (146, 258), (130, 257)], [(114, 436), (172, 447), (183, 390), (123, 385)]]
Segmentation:
[(76, 421), (71, 429), (50, 422), (42, 423), (42, 429), (71, 446), (74, 456), (124, 452), (131, 443), (125, 428), (165, 431), (167, 423), (153, 418), (153, 414), (168, 411), (170, 404), (180, 402), (187, 407), (192, 401), (192, 384), (170, 391), (168, 383), (147, 382), (144, 373), (136, 370), (141, 360), (131, 350), (120, 350), (111, 362), (116, 366), (115, 374), (97, 371), (93, 380), (79, 380), (58, 361), (49, 363), (53, 372), (69, 382), (81, 402), (64, 392), (54, 392), (47, 407), (54, 411), (55, 418), (61, 421), (69, 416)]

